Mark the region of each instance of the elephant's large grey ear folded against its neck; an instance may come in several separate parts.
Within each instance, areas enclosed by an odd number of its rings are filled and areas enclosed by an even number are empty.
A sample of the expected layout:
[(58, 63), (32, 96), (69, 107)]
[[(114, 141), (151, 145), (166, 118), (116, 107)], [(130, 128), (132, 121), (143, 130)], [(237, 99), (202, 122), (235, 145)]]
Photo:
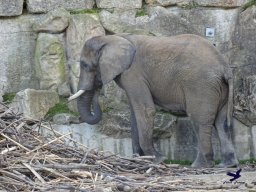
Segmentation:
[(134, 46), (126, 39), (111, 36), (101, 50), (99, 59), (101, 80), (107, 84), (130, 67), (135, 54)]

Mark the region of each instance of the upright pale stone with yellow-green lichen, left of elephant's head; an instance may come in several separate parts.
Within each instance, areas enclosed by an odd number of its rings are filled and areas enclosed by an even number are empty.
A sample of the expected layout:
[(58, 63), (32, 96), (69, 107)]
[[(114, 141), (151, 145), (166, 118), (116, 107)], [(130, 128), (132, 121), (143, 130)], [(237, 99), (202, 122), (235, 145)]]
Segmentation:
[(35, 50), (36, 74), (40, 89), (57, 88), (66, 81), (63, 34), (40, 33)]

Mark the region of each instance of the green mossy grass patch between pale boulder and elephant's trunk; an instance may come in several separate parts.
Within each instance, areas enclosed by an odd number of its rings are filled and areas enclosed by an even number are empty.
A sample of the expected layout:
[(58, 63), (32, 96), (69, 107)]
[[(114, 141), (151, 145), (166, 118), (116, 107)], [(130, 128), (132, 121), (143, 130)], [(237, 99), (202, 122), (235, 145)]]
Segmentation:
[(66, 98), (60, 98), (60, 102), (57, 103), (54, 107), (50, 108), (45, 117), (47, 119), (51, 119), (54, 115), (59, 113), (69, 113), (78, 116), (78, 113), (73, 112), (68, 108)]

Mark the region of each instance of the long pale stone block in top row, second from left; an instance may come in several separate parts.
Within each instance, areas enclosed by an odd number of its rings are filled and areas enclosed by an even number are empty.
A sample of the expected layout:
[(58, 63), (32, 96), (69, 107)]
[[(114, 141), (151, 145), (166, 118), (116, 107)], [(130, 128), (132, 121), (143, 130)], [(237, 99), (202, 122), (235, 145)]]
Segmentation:
[(70, 11), (92, 9), (95, 4), (94, 0), (27, 0), (26, 2), (30, 13), (47, 13), (59, 7)]

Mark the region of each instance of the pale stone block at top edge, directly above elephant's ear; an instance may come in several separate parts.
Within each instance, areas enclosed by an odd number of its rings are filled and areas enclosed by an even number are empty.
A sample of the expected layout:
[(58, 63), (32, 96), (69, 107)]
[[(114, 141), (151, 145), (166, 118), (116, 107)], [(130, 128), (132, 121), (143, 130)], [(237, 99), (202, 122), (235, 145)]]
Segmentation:
[(98, 8), (141, 8), (142, 0), (96, 0)]

